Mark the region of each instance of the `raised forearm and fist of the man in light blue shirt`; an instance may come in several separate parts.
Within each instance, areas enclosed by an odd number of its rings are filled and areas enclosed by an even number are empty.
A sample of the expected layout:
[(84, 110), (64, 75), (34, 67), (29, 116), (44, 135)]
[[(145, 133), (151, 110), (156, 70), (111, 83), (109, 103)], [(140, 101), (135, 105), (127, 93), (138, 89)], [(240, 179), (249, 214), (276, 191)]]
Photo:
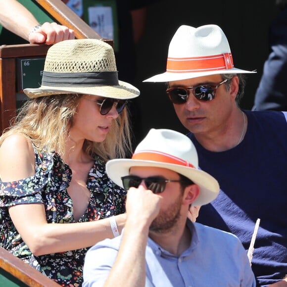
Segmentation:
[(141, 186), (128, 191), (125, 231), (105, 287), (144, 287), (145, 247), (149, 226), (159, 212), (159, 200)]

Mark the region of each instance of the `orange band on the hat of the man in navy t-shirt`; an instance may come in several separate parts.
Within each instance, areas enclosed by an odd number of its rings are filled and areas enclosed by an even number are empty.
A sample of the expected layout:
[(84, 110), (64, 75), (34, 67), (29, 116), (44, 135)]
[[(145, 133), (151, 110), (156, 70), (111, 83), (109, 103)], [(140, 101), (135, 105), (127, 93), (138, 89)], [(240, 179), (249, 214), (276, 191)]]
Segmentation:
[(194, 58), (167, 58), (166, 71), (172, 73), (205, 72), (234, 68), (231, 53)]

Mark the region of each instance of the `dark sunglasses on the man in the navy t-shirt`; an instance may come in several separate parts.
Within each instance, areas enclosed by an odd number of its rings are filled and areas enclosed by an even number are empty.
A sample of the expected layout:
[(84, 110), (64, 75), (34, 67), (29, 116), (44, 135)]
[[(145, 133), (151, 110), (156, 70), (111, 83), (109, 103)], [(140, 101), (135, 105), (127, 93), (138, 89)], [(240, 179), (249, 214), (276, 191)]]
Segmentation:
[(187, 102), (190, 96), (190, 90), (192, 91), (193, 96), (199, 100), (209, 101), (215, 98), (216, 89), (226, 83), (227, 80), (223, 80), (217, 85), (201, 85), (195, 87), (175, 87), (169, 88), (166, 90), (170, 100), (175, 104), (183, 104)]

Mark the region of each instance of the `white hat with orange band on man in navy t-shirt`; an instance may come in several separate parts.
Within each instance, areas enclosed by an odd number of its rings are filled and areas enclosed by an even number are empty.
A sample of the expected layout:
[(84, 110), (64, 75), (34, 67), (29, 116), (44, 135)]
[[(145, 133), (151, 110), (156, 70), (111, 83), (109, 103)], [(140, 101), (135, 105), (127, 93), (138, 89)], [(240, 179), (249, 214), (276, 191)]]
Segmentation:
[(170, 82), (216, 74), (256, 73), (237, 69), (225, 34), (217, 25), (182, 25), (173, 36), (166, 72), (144, 82)]

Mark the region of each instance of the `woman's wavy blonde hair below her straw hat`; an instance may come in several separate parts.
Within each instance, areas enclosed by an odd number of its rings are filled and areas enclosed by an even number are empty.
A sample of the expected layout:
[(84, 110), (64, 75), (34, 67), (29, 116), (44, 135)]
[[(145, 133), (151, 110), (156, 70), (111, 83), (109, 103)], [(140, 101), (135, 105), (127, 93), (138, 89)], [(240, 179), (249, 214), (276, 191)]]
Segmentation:
[[(12, 134), (21, 134), (28, 138), (39, 150), (56, 151), (63, 156), (65, 141), (73, 126), (80, 94), (62, 94), (29, 99), (21, 107), (16, 123), (4, 131), (0, 145)], [(123, 158), (132, 152), (131, 132), (127, 107), (112, 123), (111, 129), (102, 143), (86, 140), (85, 152), (92, 158), (95, 154), (104, 161)]]

